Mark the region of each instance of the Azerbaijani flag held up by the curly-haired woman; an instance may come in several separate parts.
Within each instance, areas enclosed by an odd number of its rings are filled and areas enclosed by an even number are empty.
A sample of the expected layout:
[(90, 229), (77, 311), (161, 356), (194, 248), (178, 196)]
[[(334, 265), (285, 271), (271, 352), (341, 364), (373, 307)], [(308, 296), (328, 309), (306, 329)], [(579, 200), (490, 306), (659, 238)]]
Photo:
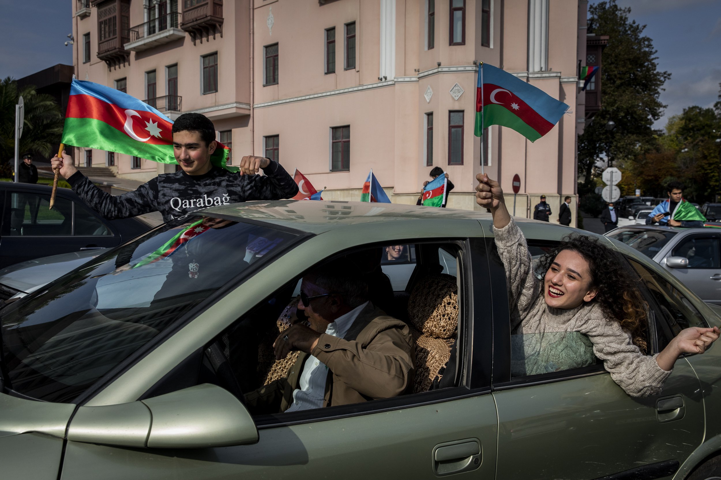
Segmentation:
[(546, 135), (568, 105), (493, 65), (478, 68), (475, 135), (489, 125), (509, 127), (535, 142)]

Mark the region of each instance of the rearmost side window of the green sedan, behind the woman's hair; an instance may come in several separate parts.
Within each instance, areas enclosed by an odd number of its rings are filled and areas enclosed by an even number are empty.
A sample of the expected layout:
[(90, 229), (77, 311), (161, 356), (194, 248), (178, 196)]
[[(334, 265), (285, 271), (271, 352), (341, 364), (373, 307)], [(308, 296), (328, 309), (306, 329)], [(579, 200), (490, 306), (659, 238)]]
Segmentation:
[(629, 258), (628, 261), (641, 277), (641, 281), (650, 291), (655, 302), (651, 308), (659, 332), (659, 350), (663, 350), (665, 345), (668, 345), (668, 342), (684, 328), (708, 326), (702, 314), (689, 302), (689, 299), (664, 279), (660, 273), (643, 266), (632, 258)]

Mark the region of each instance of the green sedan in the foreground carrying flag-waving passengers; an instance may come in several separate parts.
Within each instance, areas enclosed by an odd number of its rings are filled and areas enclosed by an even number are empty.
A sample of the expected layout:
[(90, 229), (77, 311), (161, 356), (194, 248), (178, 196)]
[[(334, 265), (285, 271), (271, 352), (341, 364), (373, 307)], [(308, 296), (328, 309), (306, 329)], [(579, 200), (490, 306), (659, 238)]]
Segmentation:
[[(573, 231), (518, 225), (536, 258)], [(649, 354), (684, 327), (721, 325), (721, 309), (600, 238), (637, 272)], [(304, 272), (379, 250), (402, 320), (425, 276), (456, 279), (442, 381), (361, 404), (251, 415), (244, 393), (263, 384), (262, 352)], [(717, 478), (718, 346), (679, 358), (660, 395), (632, 398), (598, 361), (535, 375), (515, 368), (523, 349), (514, 348), (512, 307), (490, 214), (348, 201), (195, 212), (0, 311), (0, 477)]]

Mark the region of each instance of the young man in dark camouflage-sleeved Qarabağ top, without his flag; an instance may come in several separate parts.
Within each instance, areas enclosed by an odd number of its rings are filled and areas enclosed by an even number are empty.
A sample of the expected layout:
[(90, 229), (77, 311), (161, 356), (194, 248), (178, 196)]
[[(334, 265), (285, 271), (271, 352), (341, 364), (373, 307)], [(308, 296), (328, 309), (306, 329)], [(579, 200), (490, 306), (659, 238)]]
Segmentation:
[[(131, 123), (129, 130), (137, 137), (136, 130), (141, 129), (136, 127), (133, 130)], [(163, 173), (139, 186), (136, 191), (120, 196), (111, 196), (97, 188), (75, 168), (73, 159), (64, 151), (62, 159), (53, 157), (51, 163), (53, 169), (60, 168), (61, 175), (73, 191), (106, 219), (135, 217), (157, 211), (167, 222), (213, 205), (289, 199), (298, 193), (298, 186), (288, 172), (268, 158), (243, 157), (239, 173), (213, 165), (211, 155), (219, 145), (215, 137), (213, 122), (204, 115), (180, 115), (172, 124), (172, 148), (182, 171)], [(131, 141), (135, 140), (133, 137)], [(257, 175), (260, 168), (264, 176)]]

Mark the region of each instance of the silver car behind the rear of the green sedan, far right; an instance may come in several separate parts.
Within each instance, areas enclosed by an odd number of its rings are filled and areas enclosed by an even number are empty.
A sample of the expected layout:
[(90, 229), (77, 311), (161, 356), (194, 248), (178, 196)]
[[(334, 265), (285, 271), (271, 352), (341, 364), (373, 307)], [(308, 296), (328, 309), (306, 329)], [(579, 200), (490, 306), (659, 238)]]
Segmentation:
[(721, 230), (632, 225), (606, 233), (673, 274), (704, 302), (721, 305)]

